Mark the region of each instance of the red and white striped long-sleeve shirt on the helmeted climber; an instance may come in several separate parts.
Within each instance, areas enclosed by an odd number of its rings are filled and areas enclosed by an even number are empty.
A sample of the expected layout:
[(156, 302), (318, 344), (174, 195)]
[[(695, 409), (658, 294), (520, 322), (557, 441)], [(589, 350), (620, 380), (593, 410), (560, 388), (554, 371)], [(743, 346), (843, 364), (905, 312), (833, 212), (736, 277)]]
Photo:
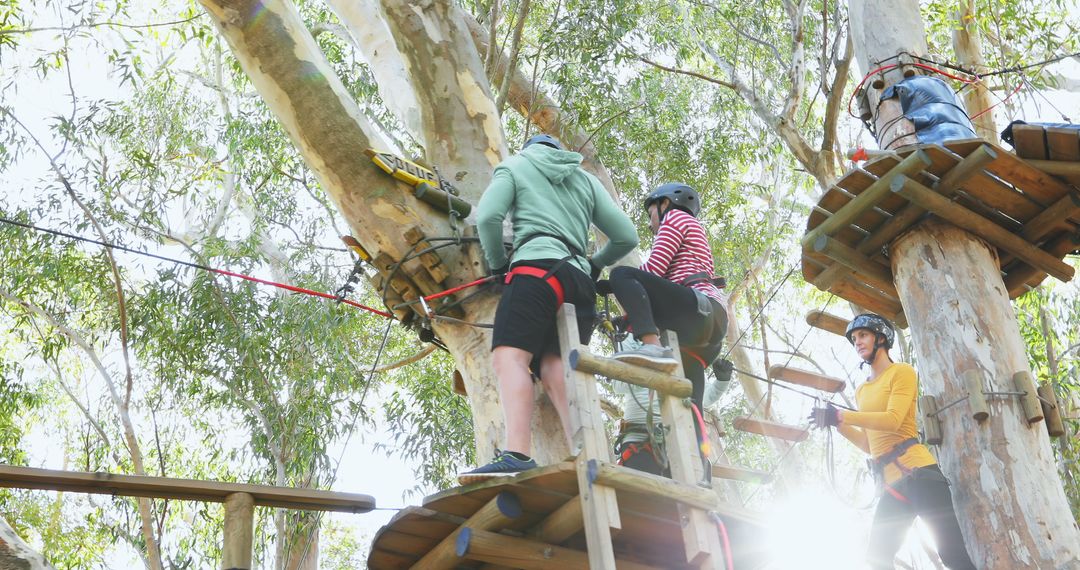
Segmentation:
[(675, 283), (683, 283), (694, 273), (706, 273), (707, 281), (698, 281), (689, 286), (724, 302), (720, 289), (712, 282), (713, 250), (708, 247), (705, 229), (698, 218), (681, 209), (672, 208), (664, 215), (657, 238), (652, 241), (649, 258), (642, 263), (640, 269)]

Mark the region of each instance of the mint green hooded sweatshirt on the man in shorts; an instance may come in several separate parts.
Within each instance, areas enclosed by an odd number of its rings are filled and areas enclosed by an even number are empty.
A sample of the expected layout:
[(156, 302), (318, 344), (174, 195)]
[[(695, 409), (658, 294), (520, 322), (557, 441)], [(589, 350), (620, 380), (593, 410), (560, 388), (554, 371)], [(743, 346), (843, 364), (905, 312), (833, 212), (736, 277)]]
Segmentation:
[[(571, 255), (558, 235), (578, 252), (589, 244), (590, 223), (608, 243), (593, 255), (597, 267), (615, 263), (637, 246), (637, 230), (615, 204), (595, 176), (581, 169), (581, 154), (545, 145), (531, 145), (495, 167), (491, 184), (476, 207), (477, 233), (489, 268), (508, 261), (562, 259)], [(502, 245), (502, 220), (508, 214), (514, 228), (513, 259)], [(525, 242), (523, 244), (523, 242)], [(590, 274), (589, 260), (572, 258), (575, 267)]]

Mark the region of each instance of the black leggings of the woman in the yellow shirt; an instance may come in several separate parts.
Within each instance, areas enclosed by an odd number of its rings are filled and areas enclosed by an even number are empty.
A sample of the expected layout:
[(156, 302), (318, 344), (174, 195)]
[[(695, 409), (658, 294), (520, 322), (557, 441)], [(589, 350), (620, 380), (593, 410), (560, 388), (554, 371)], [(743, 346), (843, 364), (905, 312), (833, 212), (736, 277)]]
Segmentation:
[(907, 502), (888, 491), (878, 502), (870, 527), (870, 545), (867, 554), (872, 568), (893, 568), (896, 551), (904, 543), (907, 529), (918, 516), (930, 527), (937, 544), (937, 555), (953, 570), (974, 570), (960, 533), (960, 524), (953, 510), (953, 493), (948, 480), (937, 465), (913, 471), (893, 485), (893, 489)]

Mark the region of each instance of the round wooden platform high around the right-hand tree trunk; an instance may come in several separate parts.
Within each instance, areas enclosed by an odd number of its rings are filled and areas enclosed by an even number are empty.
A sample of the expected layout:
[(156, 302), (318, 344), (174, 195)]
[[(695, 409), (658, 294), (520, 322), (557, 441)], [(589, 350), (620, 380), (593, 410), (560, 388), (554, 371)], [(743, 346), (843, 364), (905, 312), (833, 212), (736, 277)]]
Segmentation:
[(1048, 274), (1068, 281), (1074, 271), (1062, 258), (1080, 247), (1076, 181), (983, 140), (878, 157), (840, 178), (810, 214), (802, 275), (906, 326), (887, 248), (932, 214), (998, 248), (1010, 298)]

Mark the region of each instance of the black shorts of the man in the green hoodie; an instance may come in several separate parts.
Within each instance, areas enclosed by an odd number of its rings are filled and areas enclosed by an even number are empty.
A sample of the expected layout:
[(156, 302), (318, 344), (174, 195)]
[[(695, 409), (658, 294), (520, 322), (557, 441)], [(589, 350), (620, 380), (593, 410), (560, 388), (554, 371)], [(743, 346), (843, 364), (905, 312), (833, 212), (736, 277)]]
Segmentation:
[[(532, 259), (514, 263), (550, 270), (557, 259)], [(593, 334), (593, 313), (596, 290), (593, 281), (569, 260), (556, 271), (555, 277), (563, 285), (564, 302), (572, 303), (578, 315), (578, 340), (589, 344)], [(499, 308), (495, 311), (495, 331), (491, 348), (513, 347), (532, 354), (532, 372), (540, 374), (540, 357), (558, 354), (558, 312), (555, 291), (540, 277), (514, 275), (502, 290)]]

